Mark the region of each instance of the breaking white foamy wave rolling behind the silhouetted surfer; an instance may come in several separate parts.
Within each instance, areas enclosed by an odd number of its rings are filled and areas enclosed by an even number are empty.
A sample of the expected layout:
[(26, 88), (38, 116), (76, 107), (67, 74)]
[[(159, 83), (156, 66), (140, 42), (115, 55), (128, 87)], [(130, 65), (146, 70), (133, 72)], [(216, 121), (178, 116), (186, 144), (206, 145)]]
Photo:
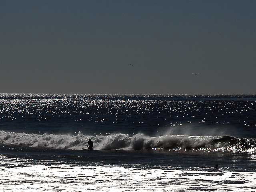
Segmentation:
[(138, 133), (128, 136), (122, 133), (112, 135), (68, 134), (30, 134), (0, 131), (1, 145), (48, 147), (52, 149), (81, 150), (87, 147), (88, 138), (94, 142), (95, 150), (162, 150), (162, 151), (256, 151), (256, 139), (235, 138), (230, 136), (187, 136), (162, 135), (149, 137)]

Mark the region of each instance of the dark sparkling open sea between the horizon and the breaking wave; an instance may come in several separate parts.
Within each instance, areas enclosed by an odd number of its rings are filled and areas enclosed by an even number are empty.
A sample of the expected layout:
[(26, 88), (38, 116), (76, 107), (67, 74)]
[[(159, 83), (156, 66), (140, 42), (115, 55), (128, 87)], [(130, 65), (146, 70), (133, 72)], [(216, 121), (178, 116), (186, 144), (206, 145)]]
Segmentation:
[(0, 130), (256, 137), (256, 96), (1, 94)]

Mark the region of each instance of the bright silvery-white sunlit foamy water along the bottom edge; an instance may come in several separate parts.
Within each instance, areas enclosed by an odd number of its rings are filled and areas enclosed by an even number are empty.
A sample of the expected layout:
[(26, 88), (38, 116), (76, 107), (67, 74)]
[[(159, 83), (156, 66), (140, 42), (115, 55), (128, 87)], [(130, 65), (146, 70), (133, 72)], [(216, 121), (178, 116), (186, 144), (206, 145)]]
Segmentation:
[(255, 172), (70, 165), (0, 167), (0, 170), (0, 188), (8, 192), (256, 190)]

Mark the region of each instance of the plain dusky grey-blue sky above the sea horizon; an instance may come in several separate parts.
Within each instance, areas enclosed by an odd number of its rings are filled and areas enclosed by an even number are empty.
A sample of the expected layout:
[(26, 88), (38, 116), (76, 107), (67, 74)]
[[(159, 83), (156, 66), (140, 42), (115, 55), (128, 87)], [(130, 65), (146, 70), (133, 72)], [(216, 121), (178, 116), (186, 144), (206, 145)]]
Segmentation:
[(254, 0), (1, 0), (0, 92), (256, 94), (255, 8)]

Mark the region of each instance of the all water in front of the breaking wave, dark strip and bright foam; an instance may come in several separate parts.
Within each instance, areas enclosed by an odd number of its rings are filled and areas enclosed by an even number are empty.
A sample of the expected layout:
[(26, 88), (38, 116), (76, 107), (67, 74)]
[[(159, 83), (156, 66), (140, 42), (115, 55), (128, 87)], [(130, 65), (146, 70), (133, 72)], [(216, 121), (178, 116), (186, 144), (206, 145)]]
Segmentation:
[[(28, 150), (26, 159), (25, 153), (19, 153), (20, 158), (1, 155), (0, 188), (13, 192), (256, 190), (255, 155), (46, 151), (42, 155), (40, 149)], [(210, 167), (215, 163), (220, 167)]]

